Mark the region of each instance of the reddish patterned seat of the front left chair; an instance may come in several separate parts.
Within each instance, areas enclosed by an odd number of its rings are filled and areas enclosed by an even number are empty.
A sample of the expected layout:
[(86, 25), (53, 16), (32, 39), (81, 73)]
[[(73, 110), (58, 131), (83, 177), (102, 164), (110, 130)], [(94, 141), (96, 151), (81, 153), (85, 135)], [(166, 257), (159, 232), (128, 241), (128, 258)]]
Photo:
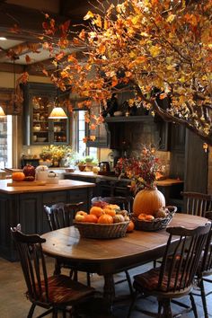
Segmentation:
[[(93, 287), (87, 287), (74, 281), (66, 275), (51, 276), (48, 278), (49, 303), (70, 304), (94, 293)], [(41, 281), (40, 303), (46, 302), (44, 281)], [(26, 294), (28, 296), (28, 293)]]

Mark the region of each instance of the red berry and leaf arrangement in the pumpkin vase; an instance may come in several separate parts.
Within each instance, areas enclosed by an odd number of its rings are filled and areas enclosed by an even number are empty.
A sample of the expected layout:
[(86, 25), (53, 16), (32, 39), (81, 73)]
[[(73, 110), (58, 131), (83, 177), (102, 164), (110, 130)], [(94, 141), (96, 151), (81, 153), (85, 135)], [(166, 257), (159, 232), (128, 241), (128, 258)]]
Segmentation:
[(131, 190), (137, 193), (144, 188), (155, 188), (154, 182), (163, 175), (164, 168), (155, 154), (155, 147), (144, 146), (137, 158), (119, 158), (115, 172), (119, 177), (128, 177), (131, 180)]

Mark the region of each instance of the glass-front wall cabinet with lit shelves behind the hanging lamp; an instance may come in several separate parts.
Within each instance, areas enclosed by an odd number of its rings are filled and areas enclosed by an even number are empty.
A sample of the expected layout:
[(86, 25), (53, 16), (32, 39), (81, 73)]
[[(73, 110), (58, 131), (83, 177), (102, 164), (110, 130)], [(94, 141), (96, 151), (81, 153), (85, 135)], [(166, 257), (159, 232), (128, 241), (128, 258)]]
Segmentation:
[(69, 119), (49, 119), (57, 95), (55, 86), (29, 83), (23, 92), (24, 145), (68, 144)]

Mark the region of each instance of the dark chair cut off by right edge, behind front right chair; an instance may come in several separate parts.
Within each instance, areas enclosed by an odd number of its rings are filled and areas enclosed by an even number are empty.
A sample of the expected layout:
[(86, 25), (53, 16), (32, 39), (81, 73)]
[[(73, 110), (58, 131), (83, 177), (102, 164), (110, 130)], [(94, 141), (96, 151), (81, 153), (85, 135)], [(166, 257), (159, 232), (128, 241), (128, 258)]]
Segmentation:
[[(206, 217), (212, 220), (212, 211), (206, 212)], [(208, 318), (207, 296), (212, 294), (212, 290), (209, 290), (207, 293), (204, 287), (204, 282), (212, 283), (212, 279), (208, 278), (211, 275), (212, 275), (212, 227), (210, 228), (206, 247), (202, 254), (201, 260), (199, 262), (199, 267), (196, 274), (200, 294), (197, 292), (196, 289), (192, 291), (193, 295), (201, 296), (205, 318)]]

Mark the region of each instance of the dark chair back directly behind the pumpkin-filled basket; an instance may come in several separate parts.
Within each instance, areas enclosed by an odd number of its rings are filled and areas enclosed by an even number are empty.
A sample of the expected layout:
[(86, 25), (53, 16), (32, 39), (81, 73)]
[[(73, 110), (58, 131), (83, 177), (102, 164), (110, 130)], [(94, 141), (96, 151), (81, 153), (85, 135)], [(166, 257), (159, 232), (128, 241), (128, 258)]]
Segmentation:
[(92, 199), (92, 204), (96, 201), (104, 201), (108, 204), (117, 204), (121, 209), (127, 210), (128, 213), (131, 213), (132, 205), (133, 205), (133, 197), (94, 197)]

